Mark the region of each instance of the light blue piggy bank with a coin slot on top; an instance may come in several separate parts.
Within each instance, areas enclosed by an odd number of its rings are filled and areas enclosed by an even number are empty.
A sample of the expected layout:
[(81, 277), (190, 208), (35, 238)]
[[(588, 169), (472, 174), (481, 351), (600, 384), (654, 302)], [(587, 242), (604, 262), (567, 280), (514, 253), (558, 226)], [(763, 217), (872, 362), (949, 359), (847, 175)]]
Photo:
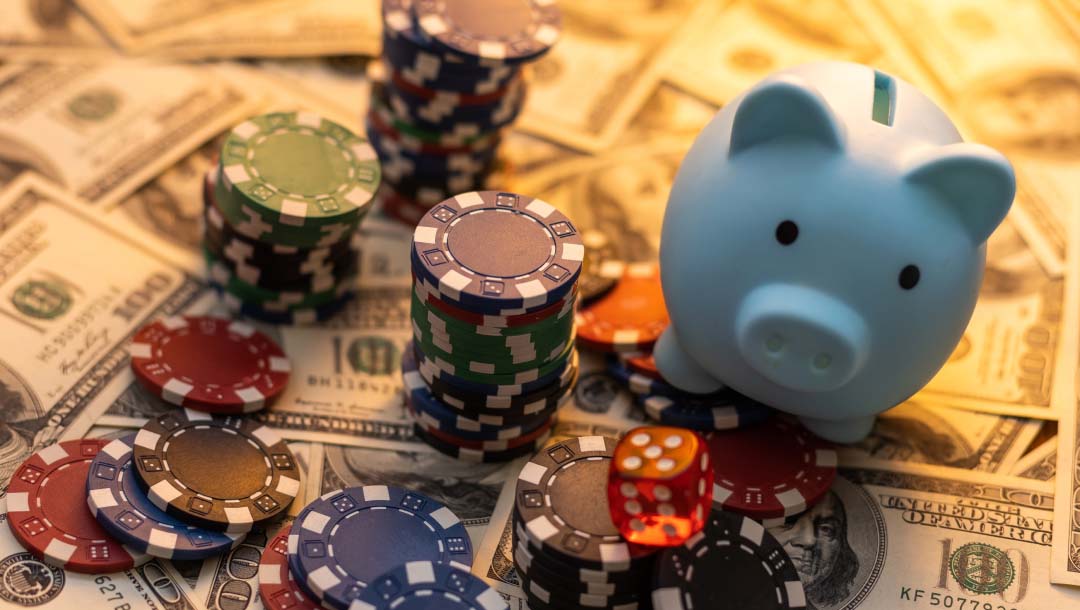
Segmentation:
[(775, 72), (679, 167), (657, 366), (861, 439), (956, 347), (1015, 189), (1005, 158), (909, 83), (837, 62)]

